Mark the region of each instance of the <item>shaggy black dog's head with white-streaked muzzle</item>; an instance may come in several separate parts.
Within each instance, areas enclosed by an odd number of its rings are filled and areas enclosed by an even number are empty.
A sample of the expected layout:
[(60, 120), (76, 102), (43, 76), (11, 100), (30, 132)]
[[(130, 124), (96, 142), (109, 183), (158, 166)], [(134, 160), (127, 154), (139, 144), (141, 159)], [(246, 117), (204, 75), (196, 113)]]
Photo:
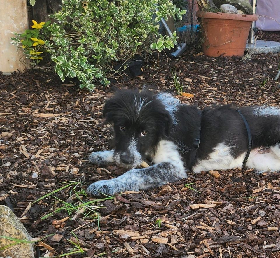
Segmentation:
[[(172, 103), (168, 104), (168, 98)], [(115, 162), (127, 167), (139, 165), (160, 139), (169, 135), (175, 103), (169, 94), (155, 95), (147, 90), (122, 90), (106, 101), (103, 115), (114, 125)]]

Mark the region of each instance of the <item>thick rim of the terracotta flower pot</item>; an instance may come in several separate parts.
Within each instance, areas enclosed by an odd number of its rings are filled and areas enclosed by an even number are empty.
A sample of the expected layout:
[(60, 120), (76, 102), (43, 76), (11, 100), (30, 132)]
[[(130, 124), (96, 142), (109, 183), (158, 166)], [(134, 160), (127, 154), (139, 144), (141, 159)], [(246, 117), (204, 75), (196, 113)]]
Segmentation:
[(226, 20), (240, 20), (253, 22), (258, 20), (258, 16), (255, 14), (233, 14), (233, 13), (212, 13), (198, 10), (195, 14), (199, 18), (206, 19), (226, 19)]

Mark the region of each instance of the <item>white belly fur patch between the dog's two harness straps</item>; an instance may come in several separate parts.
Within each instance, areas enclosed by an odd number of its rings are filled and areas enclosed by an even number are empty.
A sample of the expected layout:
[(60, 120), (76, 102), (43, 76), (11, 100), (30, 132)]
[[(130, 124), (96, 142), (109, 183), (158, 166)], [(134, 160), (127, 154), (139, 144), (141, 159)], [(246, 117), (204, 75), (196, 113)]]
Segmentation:
[(192, 167), (194, 173), (200, 173), (200, 171), (209, 171), (213, 169), (234, 169), (242, 167), (243, 160), (246, 156), (246, 152), (237, 158), (232, 156), (230, 146), (225, 145), (225, 143), (218, 144), (213, 148), (213, 152), (209, 155), (208, 159), (199, 160), (198, 163)]

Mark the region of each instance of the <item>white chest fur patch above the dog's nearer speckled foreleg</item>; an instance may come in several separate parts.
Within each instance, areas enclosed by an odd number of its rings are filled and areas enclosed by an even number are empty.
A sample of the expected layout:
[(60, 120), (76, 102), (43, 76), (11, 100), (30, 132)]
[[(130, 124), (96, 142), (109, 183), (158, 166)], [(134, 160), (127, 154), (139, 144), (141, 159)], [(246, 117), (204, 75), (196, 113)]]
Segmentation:
[(176, 169), (178, 170), (178, 175), (181, 178), (186, 177), (184, 163), (178, 152), (177, 146), (171, 141), (161, 140), (159, 142), (157, 151), (153, 158), (153, 162), (155, 164), (168, 162), (168, 163), (176, 166)]

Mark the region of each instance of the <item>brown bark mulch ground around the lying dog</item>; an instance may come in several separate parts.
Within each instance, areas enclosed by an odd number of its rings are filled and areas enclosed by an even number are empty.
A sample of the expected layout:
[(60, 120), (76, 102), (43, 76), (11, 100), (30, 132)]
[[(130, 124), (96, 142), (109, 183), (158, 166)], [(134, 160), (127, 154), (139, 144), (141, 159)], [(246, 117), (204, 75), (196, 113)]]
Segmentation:
[(162, 55), (142, 76), (94, 92), (42, 71), (0, 75), (0, 204), (37, 240), (52, 234), (37, 242), (37, 257), (48, 251), (45, 257), (279, 258), (279, 172), (188, 173), (147, 192), (103, 200), (85, 195), (90, 182), (125, 172), (86, 161), (90, 152), (111, 148), (102, 105), (116, 88), (148, 84), (176, 92), (176, 74), (183, 92), (194, 95), (178, 98), (200, 108), (280, 105), (280, 83), (273, 80), (279, 62), (279, 54), (244, 62), (188, 50), (172, 60)]

